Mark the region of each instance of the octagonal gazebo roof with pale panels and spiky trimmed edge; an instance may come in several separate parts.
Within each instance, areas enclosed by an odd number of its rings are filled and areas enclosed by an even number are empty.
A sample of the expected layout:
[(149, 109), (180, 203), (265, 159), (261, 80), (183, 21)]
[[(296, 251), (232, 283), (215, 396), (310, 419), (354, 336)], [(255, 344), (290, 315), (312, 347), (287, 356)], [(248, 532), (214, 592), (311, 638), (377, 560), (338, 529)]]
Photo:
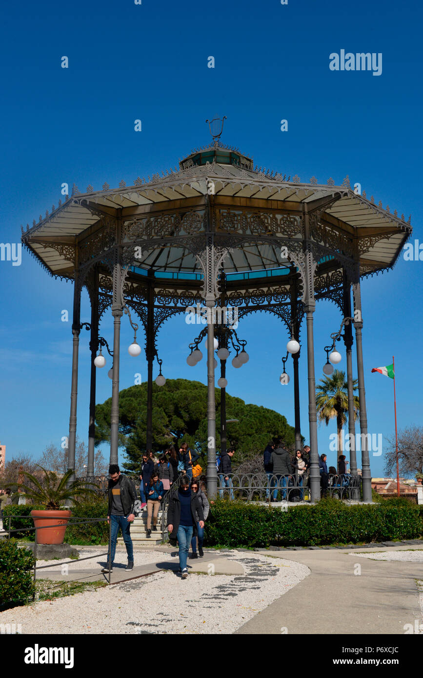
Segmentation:
[[(101, 191), (87, 186), (85, 193), (80, 193), (74, 184), (72, 195), (66, 197), (63, 204), (53, 206), (45, 218), (40, 215), (39, 222), (34, 221), (26, 232), (22, 229), (22, 242), (49, 273), (72, 278), (75, 246), (100, 233), (104, 218), (119, 215), (124, 222), (130, 222), (143, 216), (157, 218), (171, 210), (186, 212), (188, 208), (201, 212), (210, 195), (210, 186), (214, 206), (223, 217), (226, 210), (235, 213), (250, 210), (256, 220), (266, 223), (270, 213), (278, 221), (283, 214), (300, 216), (304, 205), (309, 212), (319, 209), (322, 242), (329, 242), (331, 234), (358, 241), (361, 275), (392, 267), (411, 234), (410, 219), (405, 222), (396, 210), (392, 214), (389, 207), (383, 209), (381, 203), (376, 205), (373, 196), (367, 199), (364, 192), (363, 195), (354, 193), (348, 176), (338, 186), (331, 178), (327, 184), (318, 184), (315, 177), (307, 183), (298, 176), (286, 178), (262, 167), (253, 168), (251, 158), (220, 142), (195, 149), (180, 161), (179, 169), (161, 174), (148, 177), (148, 181), (138, 177), (132, 186), (126, 186), (123, 181), (118, 188), (104, 184)], [(199, 233), (201, 231), (205, 231), (203, 226)], [(273, 235), (287, 237), (283, 226), (278, 230), (273, 224), (272, 231)], [(219, 233), (224, 233), (220, 222), (216, 224), (216, 234)], [(248, 235), (248, 227), (247, 231), (243, 228), (242, 233)], [(289, 237), (296, 239), (292, 230)], [(365, 247), (361, 247), (362, 243)], [(195, 256), (175, 245), (169, 240), (169, 246), (149, 250), (140, 260), (140, 266), (153, 268), (158, 277), (164, 271), (176, 275), (200, 273)], [(225, 271), (229, 275), (254, 273), (283, 263), (274, 245), (251, 241), (245, 243), (242, 250), (235, 247), (230, 252)]]

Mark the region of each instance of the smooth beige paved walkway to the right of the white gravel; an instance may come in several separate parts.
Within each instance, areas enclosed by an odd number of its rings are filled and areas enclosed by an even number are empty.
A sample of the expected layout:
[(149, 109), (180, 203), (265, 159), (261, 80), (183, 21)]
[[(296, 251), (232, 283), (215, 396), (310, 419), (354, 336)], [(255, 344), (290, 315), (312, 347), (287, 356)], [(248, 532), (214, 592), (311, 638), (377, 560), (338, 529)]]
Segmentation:
[[(374, 561), (349, 554), (412, 548), (267, 551), (275, 558), (304, 563), (310, 576), (236, 633), (404, 634), (405, 624), (414, 626), (415, 620), (422, 620), (416, 586), (416, 579), (423, 580), (422, 563)], [(361, 574), (354, 574), (359, 571), (356, 564)]]

